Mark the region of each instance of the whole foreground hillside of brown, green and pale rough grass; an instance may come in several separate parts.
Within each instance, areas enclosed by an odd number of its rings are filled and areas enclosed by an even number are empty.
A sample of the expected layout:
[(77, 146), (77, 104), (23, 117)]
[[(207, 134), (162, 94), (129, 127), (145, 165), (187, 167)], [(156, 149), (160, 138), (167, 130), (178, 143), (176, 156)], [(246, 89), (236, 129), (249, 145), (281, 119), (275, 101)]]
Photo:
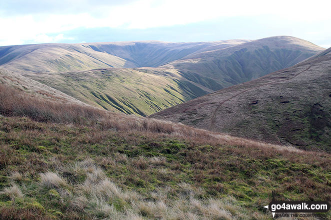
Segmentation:
[(262, 206), (272, 190), (277, 199), (331, 199), (326, 153), (3, 85), (0, 114), (0, 219), (271, 220)]

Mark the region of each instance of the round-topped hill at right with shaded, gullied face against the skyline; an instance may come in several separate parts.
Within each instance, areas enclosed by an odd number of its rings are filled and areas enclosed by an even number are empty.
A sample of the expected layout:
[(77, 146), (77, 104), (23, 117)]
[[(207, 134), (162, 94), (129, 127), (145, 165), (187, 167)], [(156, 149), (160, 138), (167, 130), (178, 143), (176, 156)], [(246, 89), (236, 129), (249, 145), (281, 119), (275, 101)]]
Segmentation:
[[(162, 67), (214, 91), (290, 67), (324, 50), (308, 41), (275, 36), (188, 55)], [(208, 79), (211, 83), (204, 82)]]

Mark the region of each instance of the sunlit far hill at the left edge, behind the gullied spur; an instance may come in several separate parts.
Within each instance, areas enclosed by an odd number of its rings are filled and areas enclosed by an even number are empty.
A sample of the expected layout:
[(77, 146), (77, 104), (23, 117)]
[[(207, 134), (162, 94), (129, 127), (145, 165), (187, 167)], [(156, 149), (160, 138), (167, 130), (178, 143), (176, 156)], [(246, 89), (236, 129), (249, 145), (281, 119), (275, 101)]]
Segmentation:
[(47, 72), (133, 67), (119, 57), (79, 44), (35, 44), (0, 47), (0, 65), (13, 71)]

